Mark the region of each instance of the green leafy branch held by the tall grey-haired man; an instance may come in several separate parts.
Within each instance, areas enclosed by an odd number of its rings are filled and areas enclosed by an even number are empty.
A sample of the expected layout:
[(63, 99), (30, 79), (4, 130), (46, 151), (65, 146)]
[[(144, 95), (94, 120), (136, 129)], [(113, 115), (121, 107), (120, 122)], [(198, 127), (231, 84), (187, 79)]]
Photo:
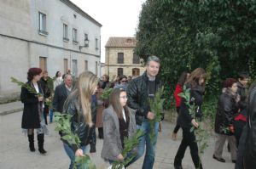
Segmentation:
[(149, 105), (150, 105), (150, 111), (154, 113), (154, 119), (149, 120), (150, 124), (150, 133), (149, 137), (151, 140), (151, 143), (154, 144), (156, 140), (154, 140), (155, 134), (154, 133), (154, 125), (156, 122), (159, 122), (163, 115), (163, 104), (165, 99), (162, 98), (162, 95), (164, 93), (164, 87), (161, 87), (155, 94), (154, 99), (148, 99)]

